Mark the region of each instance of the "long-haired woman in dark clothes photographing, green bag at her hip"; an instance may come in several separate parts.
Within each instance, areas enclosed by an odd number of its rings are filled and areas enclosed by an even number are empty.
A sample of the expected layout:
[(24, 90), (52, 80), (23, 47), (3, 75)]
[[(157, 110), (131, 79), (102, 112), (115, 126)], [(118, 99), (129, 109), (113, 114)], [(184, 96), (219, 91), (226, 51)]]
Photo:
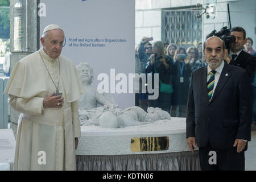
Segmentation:
[[(153, 44), (153, 52), (146, 66), (147, 73), (159, 73), (159, 97), (156, 100), (150, 100), (150, 106), (160, 107), (165, 111), (170, 111), (172, 89), (168, 92), (161, 92), (161, 82), (172, 87), (173, 61), (169, 55), (164, 53), (164, 46), (161, 41)], [(152, 83), (154, 85), (154, 83)]]

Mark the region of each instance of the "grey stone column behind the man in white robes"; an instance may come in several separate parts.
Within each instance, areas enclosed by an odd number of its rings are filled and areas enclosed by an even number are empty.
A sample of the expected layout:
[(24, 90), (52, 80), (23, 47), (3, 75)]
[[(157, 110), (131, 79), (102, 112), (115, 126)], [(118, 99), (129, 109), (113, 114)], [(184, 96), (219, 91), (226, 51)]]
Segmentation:
[[(17, 4), (17, 1), (10, 0), (10, 69), (13, 71), (16, 63), (23, 57), (30, 55), (39, 49), (39, 17), (38, 17), (38, 4), (37, 1), (24, 1), (21, 0), (21, 5)], [(26, 4), (27, 3), (27, 4)], [(23, 24), (22, 34), (22, 49), (14, 49), (14, 32), (15, 32), (15, 8), (21, 7), (23, 16), (20, 22)], [(16, 20), (17, 21), (17, 20)], [(17, 35), (17, 34), (16, 34)], [(14, 132), (16, 138), (16, 131), (18, 126), (19, 114), (12, 107), (10, 107), (10, 122), (11, 129)]]

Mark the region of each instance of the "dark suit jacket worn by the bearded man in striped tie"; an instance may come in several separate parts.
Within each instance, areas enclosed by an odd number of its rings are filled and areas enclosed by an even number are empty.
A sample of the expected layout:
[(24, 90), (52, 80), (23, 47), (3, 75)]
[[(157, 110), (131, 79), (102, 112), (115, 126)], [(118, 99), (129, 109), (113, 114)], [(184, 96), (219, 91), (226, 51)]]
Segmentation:
[[(225, 63), (225, 61), (224, 61)], [(251, 139), (251, 98), (246, 71), (224, 64), (209, 102), (207, 66), (192, 72), (187, 106), (187, 138), (198, 147), (232, 148), (234, 140)]]

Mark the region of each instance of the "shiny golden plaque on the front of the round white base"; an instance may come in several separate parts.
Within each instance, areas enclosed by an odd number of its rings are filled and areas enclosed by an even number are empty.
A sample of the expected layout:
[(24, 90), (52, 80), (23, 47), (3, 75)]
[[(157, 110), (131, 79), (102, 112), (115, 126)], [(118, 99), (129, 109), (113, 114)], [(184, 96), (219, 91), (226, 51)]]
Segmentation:
[(169, 149), (169, 137), (138, 137), (131, 139), (131, 151), (161, 151)]

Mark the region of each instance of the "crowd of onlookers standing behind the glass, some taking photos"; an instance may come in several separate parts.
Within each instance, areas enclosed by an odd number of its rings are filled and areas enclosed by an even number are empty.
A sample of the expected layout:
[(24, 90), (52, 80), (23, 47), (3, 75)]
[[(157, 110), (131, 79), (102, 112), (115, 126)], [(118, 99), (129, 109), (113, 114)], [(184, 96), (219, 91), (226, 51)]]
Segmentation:
[(191, 72), (206, 65), (202, 57), (201, 42), (186, 50), (174, 43), (157, 41), (151, 44), (148, 38), (143, 38), (135, 49), (136, 73), (153, 73), (152, 76), (159, 73), (159, 88), (167, 84), (171, 89), (159, 92), (156, 100), (148, 100), (147, 93), (139, 93), (136, 105), (144, 110), (148, 106), (160, 107), (173, 117), (185, 117)]

